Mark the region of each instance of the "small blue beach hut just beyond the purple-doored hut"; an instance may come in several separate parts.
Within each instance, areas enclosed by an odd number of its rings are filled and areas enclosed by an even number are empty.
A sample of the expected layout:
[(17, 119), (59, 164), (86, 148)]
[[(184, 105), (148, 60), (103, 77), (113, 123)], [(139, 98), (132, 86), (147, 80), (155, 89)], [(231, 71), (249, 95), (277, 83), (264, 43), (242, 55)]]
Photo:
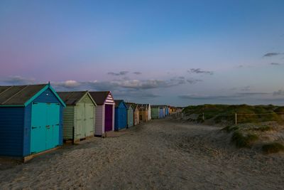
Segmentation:
[(124, 100), (114, 100), (114, 130), (119, 131), (127, 127), (127, 106)]

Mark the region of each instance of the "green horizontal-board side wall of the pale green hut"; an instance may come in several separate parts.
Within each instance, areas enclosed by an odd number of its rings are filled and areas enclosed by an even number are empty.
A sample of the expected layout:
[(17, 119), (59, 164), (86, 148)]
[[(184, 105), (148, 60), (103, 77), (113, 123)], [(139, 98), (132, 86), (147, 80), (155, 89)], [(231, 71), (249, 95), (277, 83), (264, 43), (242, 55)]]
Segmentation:
[(63, 139), (73, 139), (73, 127), (75, 126), (74, 106), (67, 105), (63, 112)]

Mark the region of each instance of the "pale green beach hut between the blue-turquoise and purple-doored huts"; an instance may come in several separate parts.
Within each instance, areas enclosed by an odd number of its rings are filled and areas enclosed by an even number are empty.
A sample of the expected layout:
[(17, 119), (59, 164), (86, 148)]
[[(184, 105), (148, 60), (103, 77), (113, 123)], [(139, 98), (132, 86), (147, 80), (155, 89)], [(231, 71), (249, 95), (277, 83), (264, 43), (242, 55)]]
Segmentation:
[(87, 91), (58, 92), (65, 102), (63, 111), (63, 139), (80, 141), (94, 137), (96, 102)]

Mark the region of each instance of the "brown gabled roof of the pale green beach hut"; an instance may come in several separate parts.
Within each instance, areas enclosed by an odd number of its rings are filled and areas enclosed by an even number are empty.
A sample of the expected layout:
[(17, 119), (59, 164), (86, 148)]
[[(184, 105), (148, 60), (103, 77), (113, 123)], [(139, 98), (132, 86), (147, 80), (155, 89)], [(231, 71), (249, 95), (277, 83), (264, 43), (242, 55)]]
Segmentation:
[(80, 102), (80, 100), (82, 100), (82, 98), (84, 98), (86, 95), (89, 96), (94, 105), (96, 105), (96, 102), (94, 102), (92, 96), (89, 95), (88, 91), (58, 92), (58, 95), (66, 105), (76, 105), (77, 102)]

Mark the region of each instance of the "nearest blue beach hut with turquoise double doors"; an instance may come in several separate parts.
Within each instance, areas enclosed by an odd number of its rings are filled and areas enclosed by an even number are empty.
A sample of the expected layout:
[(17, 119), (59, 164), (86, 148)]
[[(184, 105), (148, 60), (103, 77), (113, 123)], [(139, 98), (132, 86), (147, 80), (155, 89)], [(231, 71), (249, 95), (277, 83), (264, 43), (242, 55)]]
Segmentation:
[(50, 84), (0, 86), (0, 154), (26, 161), (62, 145), (63, 107)]

